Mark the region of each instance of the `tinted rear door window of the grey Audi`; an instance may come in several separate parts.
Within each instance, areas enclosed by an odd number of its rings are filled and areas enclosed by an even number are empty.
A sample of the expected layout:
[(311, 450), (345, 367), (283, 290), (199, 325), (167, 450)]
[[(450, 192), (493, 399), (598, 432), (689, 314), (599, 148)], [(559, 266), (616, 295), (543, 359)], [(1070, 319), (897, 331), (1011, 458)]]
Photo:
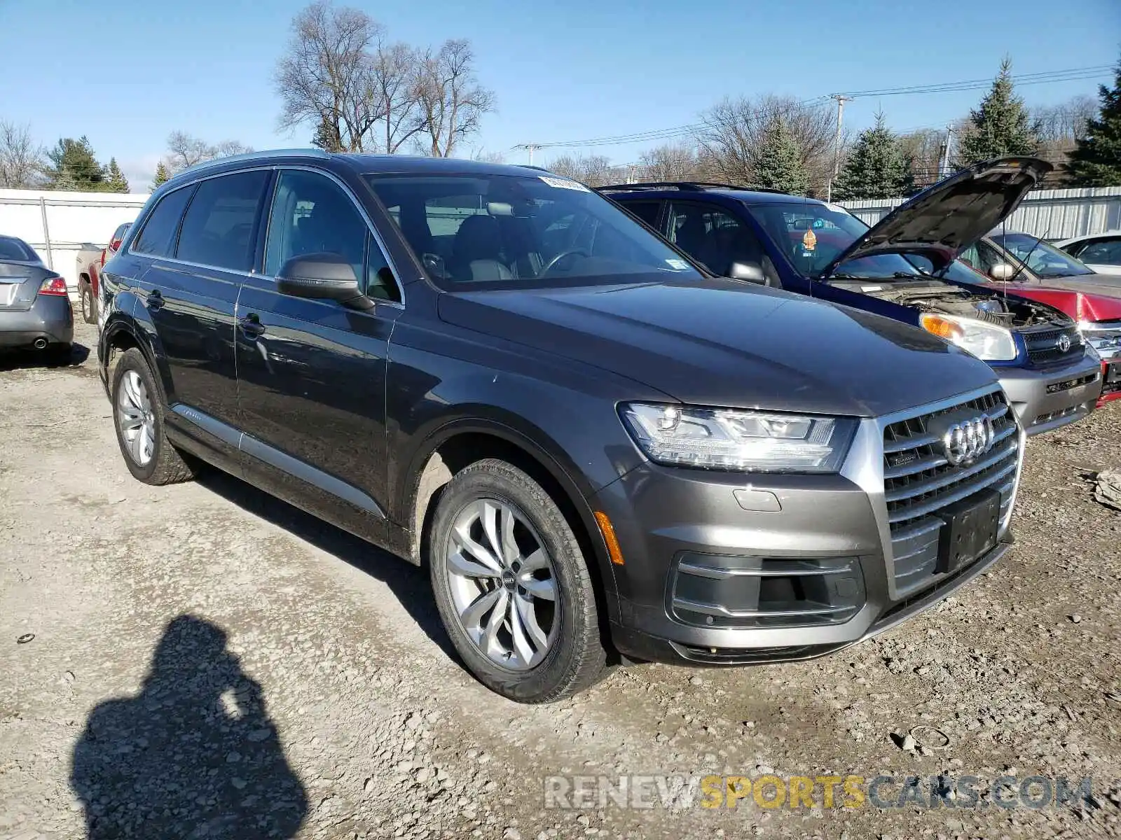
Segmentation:
[(204, 180), (183, 217), (176, 258), (233, 271), (253, 267), (257, 214), (269, 172), (238, 172)]

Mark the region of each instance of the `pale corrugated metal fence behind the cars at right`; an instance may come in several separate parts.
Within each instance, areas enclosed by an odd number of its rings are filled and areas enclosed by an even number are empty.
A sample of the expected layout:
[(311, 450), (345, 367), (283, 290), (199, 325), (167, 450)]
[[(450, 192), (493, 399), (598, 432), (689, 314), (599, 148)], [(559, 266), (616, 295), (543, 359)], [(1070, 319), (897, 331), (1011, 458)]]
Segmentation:
[[(906, 202), (882, 198), (839, 202), (867, 224), (876, 224)], [(1121, 187), (1038, 189), (1028, 193), (1016, 213), (1008, 217), (1009, 231), (1023, 231), (1047, 240), (1064, 240), (1121, 227)]]

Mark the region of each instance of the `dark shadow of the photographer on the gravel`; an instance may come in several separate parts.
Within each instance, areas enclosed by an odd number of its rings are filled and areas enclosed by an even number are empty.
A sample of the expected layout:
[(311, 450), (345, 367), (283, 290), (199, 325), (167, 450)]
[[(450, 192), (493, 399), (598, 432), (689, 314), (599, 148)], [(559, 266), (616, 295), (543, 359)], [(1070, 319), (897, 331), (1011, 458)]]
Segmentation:
[(295, 836), (307, 794), (225, 644), (214, 624), (178, 616), (140, 693), (90, 713), (71, 769), (90, 840)]

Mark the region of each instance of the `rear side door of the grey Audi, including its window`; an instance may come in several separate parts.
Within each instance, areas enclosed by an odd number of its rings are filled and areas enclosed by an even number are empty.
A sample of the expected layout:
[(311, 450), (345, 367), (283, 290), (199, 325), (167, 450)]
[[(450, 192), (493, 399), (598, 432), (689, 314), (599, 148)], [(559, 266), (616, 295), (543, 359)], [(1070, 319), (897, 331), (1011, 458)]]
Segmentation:
[(173, 236), (170, 258), (152, 260), (140, 281), (138, 305), (159, 348), (169, 424), (225, 466), (239, 461), (234, 307), (256, 263), (270, 184), (270, 169), (200, 181)]

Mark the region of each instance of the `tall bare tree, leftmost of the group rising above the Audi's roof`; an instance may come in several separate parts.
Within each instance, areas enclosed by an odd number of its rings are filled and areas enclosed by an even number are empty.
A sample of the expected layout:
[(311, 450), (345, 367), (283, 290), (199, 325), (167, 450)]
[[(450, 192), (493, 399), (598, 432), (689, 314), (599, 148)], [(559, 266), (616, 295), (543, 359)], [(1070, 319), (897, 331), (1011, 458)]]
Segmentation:
[(364, 151), (385, 116), (373, 59), (382, 36), (364, 11), (336, 9), (327, 0), (296, 15), (275, 76), (284, 103), (280, 128), (315, 125), (316, 139), (334, 141), (342, 151)]

